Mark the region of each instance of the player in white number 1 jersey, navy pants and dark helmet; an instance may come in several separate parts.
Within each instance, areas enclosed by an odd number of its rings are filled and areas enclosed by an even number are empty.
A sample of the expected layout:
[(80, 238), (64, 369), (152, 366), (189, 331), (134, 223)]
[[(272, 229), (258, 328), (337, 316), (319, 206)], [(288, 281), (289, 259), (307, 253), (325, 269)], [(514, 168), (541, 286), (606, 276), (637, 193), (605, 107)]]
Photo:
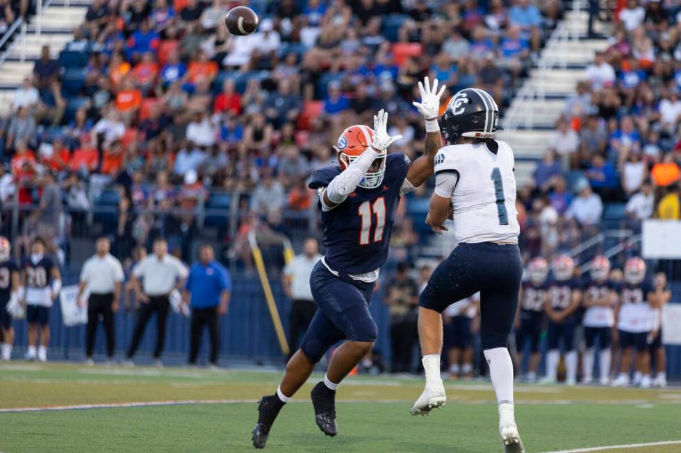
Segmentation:
[(482, 89), (455, 94), (442, 115), (447, 146), (435, 157), (436, 189), (426, 223), (435, 232), (454, 220), (459, 246), (435, 269), (419, 298), (418, 332), (426, 384), (411, 407), (425, 415), (445, 404), (440, 376), (442, 311), (480, 291), (482, 349), (498, 400), (499, 431), (506, 452), (524, 452), (514, 416), (513, 364), (507, 350), (523, 262), (518, 248), (515, 160), (494, 140), (499, 109)]

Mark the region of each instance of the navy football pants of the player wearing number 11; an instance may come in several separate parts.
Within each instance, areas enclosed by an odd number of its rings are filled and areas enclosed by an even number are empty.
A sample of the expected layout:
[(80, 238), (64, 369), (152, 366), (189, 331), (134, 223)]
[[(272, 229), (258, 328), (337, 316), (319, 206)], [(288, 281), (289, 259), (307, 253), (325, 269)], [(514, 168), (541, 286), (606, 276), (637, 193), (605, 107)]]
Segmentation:
[(314, 363), (341, 340), (376, 341), (378, 327), (369, 313), (374, 283), (336, 277), (318, 262), (310, 275), (312, 296), (319, 307), (300, 349)]

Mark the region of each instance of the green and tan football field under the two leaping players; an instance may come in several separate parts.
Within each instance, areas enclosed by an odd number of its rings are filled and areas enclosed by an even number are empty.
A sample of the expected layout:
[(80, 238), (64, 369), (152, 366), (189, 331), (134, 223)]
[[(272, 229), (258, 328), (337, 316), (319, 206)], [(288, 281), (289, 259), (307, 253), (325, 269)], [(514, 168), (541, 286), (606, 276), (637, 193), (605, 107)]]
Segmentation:
[[(0, 365), (0, 452), (247, 452), (256, 399), (280, 373)], [(409, 415), (420, 379), (350, 377), (338, 391), (335, 438), (309, 402), (314, 375), (272, 428), (271, 452), (502, 452), (489, 382), (448, 383), (448, 404)], [(145, 407), (28, 411), (81, 404), (165, 402)], [(184, 402), (184, 404), (180, 404)], [(177, 403), (177, 404), (175, 404)], [(6, 409), (23, 409), (7, 412)], [(516, 420), (527, 453), (681, 441), (681, 388), (516, 386)], [(599, 450), (681, 452), (681, 443)]]

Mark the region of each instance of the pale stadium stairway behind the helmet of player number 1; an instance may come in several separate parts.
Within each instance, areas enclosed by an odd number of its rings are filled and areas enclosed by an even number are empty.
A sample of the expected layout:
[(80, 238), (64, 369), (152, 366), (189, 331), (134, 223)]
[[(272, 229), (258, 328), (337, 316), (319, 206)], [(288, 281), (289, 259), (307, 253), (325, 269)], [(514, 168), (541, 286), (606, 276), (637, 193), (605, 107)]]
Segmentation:
[[(584, 3), (575, 2), (578, 7)], [(566, 11), (529, 77), (502, 112), (500, 123), (506, 130), (498, 137), (514, 148), (518, 187), (531, 180), (566, 99), (575, 92), (577, 82), (584, 79), (584, 69), (593, 61), (594, 53), (607, 46), (605, 37), (586, 38), (588, 21), (589, 12), (583, 8)], [(602, 24), (596, 22), (594, 30), (599, 33)]]

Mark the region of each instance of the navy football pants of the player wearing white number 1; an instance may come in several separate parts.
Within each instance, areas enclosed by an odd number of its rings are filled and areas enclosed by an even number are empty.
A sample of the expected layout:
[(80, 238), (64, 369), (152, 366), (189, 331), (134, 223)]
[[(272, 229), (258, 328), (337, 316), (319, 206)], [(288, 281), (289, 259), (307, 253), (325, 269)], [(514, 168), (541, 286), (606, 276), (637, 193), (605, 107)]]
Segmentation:
[(442, 313), (480, 291), (482, 349), (506, 348), (513, 327), (523, 262), (516, 244), (460, 243), (441, 262), (418, 301)]

